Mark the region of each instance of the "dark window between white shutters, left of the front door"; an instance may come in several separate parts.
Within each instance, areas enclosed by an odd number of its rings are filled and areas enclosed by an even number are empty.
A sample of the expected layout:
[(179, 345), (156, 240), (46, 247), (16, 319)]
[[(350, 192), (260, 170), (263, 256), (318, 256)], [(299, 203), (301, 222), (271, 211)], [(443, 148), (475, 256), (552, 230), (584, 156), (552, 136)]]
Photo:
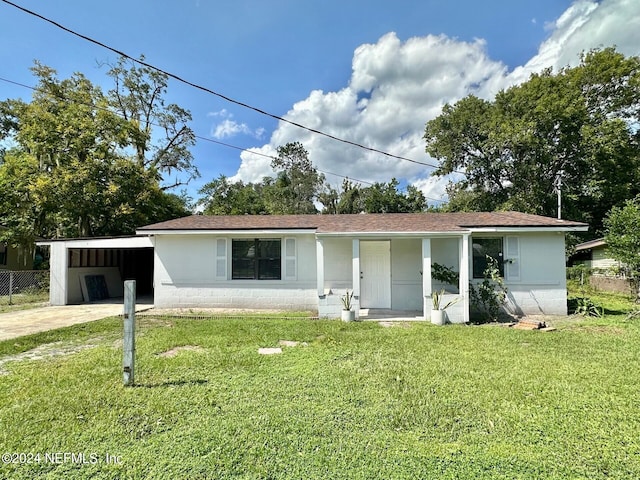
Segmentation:
[(231, 278), (234, 280), (280, 280), (282, 249), (279, 238), (233, 240)]

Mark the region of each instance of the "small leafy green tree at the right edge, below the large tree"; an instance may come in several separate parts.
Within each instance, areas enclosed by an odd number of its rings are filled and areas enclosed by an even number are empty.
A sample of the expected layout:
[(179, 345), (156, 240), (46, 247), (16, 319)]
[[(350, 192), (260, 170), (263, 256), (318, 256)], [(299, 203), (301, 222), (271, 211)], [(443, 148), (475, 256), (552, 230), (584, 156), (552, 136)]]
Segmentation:
[(640, 303), (640, 196), (613, 207), (604, 224), (607, 250), (627, 271)]

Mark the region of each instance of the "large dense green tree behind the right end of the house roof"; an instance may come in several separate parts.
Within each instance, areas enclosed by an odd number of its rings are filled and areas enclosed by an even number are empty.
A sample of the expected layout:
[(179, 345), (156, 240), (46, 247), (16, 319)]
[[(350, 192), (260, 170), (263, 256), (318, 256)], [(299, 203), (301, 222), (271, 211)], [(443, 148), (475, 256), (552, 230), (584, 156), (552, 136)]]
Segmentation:
[(562, 180), (564, 216), (602, 231), (606, 212), (640, 192), (640, 59), (614, 49), (550, 69), (499, 92), (445, 105), (427, 123), (433, 172), (463, 171), (450, 183), (450, 210), (512, 209), (555, 216)]

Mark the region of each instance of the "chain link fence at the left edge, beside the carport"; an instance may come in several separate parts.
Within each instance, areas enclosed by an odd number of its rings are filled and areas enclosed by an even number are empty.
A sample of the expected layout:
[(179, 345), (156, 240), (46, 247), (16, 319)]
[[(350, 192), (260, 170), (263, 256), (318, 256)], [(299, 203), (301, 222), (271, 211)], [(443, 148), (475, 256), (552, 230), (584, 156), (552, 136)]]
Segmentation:
[(48, 270), (0, 270), (0, 305), (20, 305), (48, 300)]

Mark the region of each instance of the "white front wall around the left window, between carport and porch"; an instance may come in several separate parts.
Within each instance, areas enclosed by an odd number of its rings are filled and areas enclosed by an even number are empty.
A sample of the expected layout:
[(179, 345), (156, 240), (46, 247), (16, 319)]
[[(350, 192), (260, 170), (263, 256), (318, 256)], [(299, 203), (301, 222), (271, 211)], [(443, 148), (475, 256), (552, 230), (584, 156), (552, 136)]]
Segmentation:
[[(315, 237), (296, 239), (296, 278), (292, 280), (232, 280), (233, 238), (281, 238), (274, 235), (215, 236), (157, 235), (155, 243), (154, 305), (157, 308), (259, 308), (312, 310), (318, 308)], [(227, 240), (226, 275), (216, 276), (216, 240)]]

